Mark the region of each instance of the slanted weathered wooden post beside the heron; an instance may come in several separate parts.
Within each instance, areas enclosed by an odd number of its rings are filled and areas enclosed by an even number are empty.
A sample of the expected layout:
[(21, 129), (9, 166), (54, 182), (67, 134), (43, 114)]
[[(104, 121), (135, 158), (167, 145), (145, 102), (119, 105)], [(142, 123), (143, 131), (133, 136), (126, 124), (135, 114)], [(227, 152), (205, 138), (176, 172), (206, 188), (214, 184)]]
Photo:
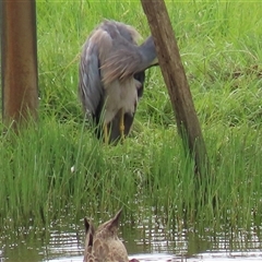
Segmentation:
[(180, 134), (193, 154), (195, 168), (207, 167), (207, 154), (177, 41), (163, 0), (141, 0), (156, 45), (158, 62), (176, 116)]

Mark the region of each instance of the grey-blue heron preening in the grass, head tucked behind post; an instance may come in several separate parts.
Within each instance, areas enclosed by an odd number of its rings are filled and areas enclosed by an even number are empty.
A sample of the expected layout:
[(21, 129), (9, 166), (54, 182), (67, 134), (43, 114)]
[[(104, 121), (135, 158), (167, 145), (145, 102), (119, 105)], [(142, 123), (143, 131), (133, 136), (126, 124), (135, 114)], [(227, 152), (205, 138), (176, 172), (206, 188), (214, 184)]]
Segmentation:
[(145, 70), (156, 66), (153, 37), (138, 45), (130, 25), (105, 20), (86, 39), (79, 67), (79, 94), (85, 116), (106, 144), (124, 139), (143, 95)]

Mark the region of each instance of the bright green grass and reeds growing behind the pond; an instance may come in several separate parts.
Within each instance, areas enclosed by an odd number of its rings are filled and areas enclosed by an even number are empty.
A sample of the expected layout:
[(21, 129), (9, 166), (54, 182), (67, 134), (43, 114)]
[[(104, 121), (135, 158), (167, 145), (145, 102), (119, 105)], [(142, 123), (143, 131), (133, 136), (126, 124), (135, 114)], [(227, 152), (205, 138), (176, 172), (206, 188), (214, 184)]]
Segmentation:
[[(261, 222), (262, 5), (166, 1), (211, 162), (198, 183), (159, 69), (147, 73), (131, 138), (105, 146), (84, 123), (78, 63), (103, 17), (150, 34), (139, 1), (37, 1), (39, 122), (1, 138), (1, 228), (124, 206), (180, 225), (250, 228)], [(195, 188), (195, 184), (200, 187)], [(215, 205), (214, 205), (215, 201)], [(97, 215), (98, 216), (98, 215)]]

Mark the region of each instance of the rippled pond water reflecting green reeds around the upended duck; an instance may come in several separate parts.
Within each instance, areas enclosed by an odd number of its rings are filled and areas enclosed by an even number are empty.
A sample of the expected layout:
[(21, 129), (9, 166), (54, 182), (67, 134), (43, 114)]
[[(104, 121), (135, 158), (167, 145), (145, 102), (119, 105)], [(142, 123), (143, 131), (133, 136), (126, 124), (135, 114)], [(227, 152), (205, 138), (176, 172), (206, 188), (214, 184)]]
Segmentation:
[[(82, 221), (52, 223), (48, 229), (19, 229), (0, 235), (0, 262), (80, 262), (83, 261), (84, 229)], [(123, 219), (122, 219), (123, 221)], [(259, 228), (261, 229), (261, 228)], [(122, 223), (119, 236), (124, 239), (130, 258), (140, 261), (262, 261), (258, 228), (231, 233), (205, 229), (167, 230), (162, 218)]]

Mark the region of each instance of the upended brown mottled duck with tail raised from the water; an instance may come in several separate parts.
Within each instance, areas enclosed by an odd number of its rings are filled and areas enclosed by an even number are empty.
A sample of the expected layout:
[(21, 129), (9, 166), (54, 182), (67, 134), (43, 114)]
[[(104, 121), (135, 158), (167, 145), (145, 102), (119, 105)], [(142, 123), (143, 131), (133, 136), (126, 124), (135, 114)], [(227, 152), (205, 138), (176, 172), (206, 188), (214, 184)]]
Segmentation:
[(121, 210), (97, 229), (87, 218), (84, 218), (85, 250), (83, 262), (139, 262), (136, 259), (129, 260), (127, 249), (118, 238), (120, 215)]

